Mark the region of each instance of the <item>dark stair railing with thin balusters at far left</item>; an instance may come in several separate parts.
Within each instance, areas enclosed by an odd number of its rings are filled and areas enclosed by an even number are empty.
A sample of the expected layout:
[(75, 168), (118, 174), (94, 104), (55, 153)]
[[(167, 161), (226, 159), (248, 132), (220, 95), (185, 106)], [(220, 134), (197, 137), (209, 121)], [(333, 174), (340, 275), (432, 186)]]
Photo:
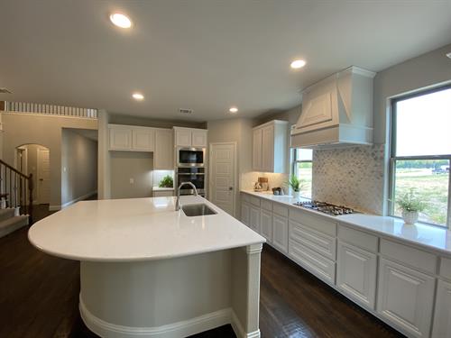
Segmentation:
[(32, 174), (27, 176), (0, 160), (0, 199), (5, 200), (2, 204), (19, 208), (20, 215), (29, 216), (29, 224), (32, 224), (32, 191)]

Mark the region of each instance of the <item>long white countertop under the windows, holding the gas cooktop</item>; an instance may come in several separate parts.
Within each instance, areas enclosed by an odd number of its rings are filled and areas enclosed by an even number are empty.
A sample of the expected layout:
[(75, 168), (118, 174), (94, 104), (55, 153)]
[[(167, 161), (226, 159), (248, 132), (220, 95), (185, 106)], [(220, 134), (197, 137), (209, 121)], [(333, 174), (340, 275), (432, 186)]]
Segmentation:
[[(250, 190), (242, 190), (242, 192), (281, 203), (298, 210), (300, 209), (308, 213), (327, 217), (336, 222), (351, 225), (354, 228), (382, 234), (403, 242), (410, 242), (411, 244), (416, 244), (434, 251), (441, 251), (448, 255), (451, 254), (451, 232), (446, 228), (420, 223), (413, 225), (404, 224), (402, 219), (391, 216), (368, 214), (326, 215), (315, 210), (293, 206), (293, 203), (299, 201), (299, 199), (293, 198), (292, 196), (274, 196), (270, 193), (258, 193)], [(307, 201), (308, 199), (304, 200)]]

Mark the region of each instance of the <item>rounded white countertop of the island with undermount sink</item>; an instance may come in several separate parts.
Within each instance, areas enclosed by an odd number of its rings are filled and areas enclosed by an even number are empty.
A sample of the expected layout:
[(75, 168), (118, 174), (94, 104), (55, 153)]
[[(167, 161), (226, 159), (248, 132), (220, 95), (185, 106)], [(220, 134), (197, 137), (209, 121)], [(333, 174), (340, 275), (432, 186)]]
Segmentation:
[(216, 215), (188, 217), (174, 211), (175, 197), (82, 201), (33, 224), (28, 238), (70, 260), (160, 260), (265, 242), (258, 233), (200, 196)]

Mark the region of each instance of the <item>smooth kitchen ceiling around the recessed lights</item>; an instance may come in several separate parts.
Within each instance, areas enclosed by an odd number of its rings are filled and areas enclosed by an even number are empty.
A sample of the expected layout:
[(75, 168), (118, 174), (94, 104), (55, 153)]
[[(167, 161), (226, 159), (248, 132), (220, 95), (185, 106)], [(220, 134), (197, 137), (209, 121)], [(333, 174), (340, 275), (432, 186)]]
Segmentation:
[[(114, 10), (132, 30), (108, 21)], [(0, 100), (193, 121), (237, 105), (251, 117), (299, 105), (300, 89), (339, 69), (379, 71), (446, 45), (450, 13), (451, 0), (4, 0), (0, 87), (14, 94)]]

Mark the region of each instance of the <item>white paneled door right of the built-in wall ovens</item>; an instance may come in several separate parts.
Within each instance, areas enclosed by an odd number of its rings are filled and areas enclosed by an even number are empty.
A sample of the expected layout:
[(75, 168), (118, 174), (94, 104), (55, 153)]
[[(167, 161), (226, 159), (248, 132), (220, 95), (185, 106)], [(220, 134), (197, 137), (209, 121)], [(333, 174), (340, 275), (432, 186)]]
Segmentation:
[(236, 144), (210, 143), (210, 200), (235, 216)]

